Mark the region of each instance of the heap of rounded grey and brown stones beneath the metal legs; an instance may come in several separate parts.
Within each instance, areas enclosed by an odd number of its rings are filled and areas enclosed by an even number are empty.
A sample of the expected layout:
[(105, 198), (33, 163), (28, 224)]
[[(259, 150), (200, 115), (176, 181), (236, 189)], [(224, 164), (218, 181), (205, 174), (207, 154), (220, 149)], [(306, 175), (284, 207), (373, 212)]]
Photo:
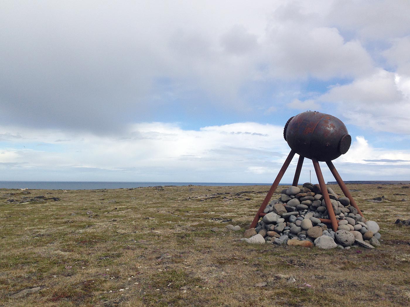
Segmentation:
[(280, 198), (266, 206), (266, 215), (256, 227), (245, 231), (243, 240), (323, 249), (380, 246), (378, 224), (366, 221), (347, 197), (339, 197), (330, 187), (327, 189), (339, 224), (336, 232), (320, 221), (329, 219), (320, 186), (304, 183), (302, 188), (292, 186), (282, 190)]

